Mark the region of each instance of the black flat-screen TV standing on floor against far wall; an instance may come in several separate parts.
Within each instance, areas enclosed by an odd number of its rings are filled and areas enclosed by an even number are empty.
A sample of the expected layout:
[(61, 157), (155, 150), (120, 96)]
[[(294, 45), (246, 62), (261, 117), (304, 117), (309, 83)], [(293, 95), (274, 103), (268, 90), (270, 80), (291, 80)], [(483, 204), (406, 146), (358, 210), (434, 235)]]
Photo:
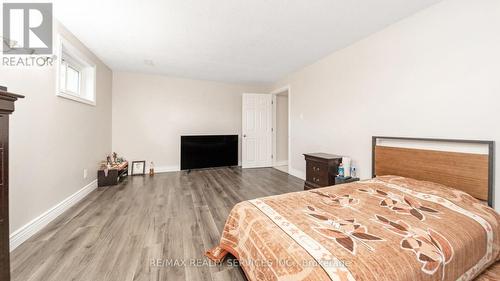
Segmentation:
[(181, 170), (238, 165), (238, 135), (181, 136)]

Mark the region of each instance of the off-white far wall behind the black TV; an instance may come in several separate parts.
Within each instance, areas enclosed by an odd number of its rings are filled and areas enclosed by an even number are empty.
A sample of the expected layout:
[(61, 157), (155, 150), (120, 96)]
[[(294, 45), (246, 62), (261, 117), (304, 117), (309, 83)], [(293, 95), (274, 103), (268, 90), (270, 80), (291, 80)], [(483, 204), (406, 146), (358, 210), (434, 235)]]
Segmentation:
[(113, 150), (129, 161), (154, 161), (157, 171), (178, 170), (181, 135), (240, 135), (241, 94), (262, 91), (259, 86), (113, 72)]

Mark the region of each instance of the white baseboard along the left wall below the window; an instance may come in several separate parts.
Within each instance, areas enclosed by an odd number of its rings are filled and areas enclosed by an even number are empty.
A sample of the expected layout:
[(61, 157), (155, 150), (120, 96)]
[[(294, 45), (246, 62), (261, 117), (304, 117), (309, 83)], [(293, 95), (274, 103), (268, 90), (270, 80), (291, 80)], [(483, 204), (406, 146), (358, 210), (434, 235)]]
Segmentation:
[(85, 198), (90, 192), (97, 188), (97, 180), (92, 181), (82, 189), (78, 190), (74, 194), (70, 195), (68, 198), (61, 201), (59, 204), (55, 205), (45, 213), (41, 214), (37, 218), (23, 225), (10, 235), (10, 251), (12, 252), (15, 248), (21, 245), (24, 241), (28, 240), (31, 236), (36, 234), (47, 224), (57, 218), (59, 215), (64, 213), (66, 210), (71, 208), (73, 205), (78, 203), (80, 200)]

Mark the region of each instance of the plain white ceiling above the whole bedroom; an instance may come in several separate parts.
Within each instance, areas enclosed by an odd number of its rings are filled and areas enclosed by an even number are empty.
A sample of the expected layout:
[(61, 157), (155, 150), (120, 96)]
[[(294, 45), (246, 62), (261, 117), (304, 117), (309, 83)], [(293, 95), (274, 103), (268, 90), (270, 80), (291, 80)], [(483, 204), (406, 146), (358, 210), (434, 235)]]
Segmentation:
[(439, 0), (56, 0), (118, 71), (274, 82)]

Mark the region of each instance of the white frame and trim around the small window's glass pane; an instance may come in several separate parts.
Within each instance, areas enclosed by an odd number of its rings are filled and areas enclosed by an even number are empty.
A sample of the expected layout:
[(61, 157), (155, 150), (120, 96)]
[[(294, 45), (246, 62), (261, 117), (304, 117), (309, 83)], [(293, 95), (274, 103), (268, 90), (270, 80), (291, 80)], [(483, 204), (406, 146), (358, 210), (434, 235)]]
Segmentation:
[[(96, 65), (61, 35), (58, 35), (57, 43), (56, 96), (96, 106)], [(78, 72), (78, 93), (66, 89), (68, 67)], [(64, 88), (61, 71), (66, 72)], [(84, 83), (88, 84), (85, 88)]]

